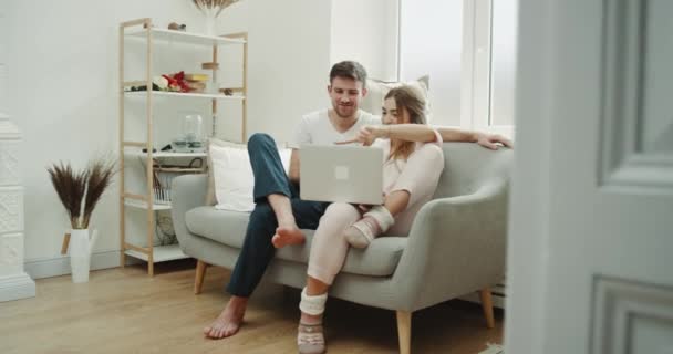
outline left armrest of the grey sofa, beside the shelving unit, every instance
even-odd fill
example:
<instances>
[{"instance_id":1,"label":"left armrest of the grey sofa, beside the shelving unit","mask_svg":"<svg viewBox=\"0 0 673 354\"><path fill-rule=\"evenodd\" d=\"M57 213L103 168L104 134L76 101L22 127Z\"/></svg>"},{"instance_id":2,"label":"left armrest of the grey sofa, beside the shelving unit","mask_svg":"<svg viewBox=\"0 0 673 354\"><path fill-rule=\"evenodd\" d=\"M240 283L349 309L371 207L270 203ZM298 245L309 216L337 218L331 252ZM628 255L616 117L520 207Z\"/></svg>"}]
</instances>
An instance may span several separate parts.
<instances>
[{"instance_id":1,"label":"left armrest of the grey sofa, beside the shelving unit","mask_svg":"<svg viewBox=\"0 0 673 354\"><path fill-rule=\"evenodd\" d=\"M185 214L196 207L206 205L206 191L208 189L207 175L184 175L173 180L172 186L173 228L178 242L187 237L187 223Z\"/></svg>"}]
</instances>

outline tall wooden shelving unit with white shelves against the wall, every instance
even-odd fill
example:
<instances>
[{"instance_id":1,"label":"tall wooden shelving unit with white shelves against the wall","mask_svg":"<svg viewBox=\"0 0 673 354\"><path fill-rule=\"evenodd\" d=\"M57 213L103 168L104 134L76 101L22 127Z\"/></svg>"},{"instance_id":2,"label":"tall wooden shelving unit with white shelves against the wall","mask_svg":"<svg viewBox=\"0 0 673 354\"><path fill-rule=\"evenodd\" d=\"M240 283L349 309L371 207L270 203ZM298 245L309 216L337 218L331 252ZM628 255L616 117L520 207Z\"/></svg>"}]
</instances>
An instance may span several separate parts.
<instances>
[{"instance_id":1,"label":"tall wooden shelving unit with white shelves against the wall","mask_svg":"<svg viewBox=\"0 0 673 354\"><path fill-rule=\"evenodd\" d=\"M235 33L220 37L204 35L198 33L188 33L183 31L173 31L166 29L154 28L152 19L137 19L122 22L120 24L120 246L121 246L121 264L126 263L126 257L142 259L147 262L147 272L154 275L154 263L162 261L176 260L187 258L178 244L154 246L155 218L156 211L169 210L169 204L159 204L155 201L154 190L147 188L146 194L134 195L126 190L125 186L125 163L128 157L141 157L145 162L145 176L147 176L146 185L153 186L153 176L155 171L164 173L204 173L205 167L199 168L179 168L179 167L159 167L155 168L152 163L155 158L185 158L185 157L201 157L205 158L205 153L153 153L154 136L153 136L153 105L155 100L161 104L162 100L210 100L214 122L214 133L216 127L216 115L219 101L239 101L242 104L242 122L241 122L241 142L246 140L247 136L247 81L248 81L248 34ZM126 38L136 38L146 42L146 77L139 81L125 81L124 75L124 48ZM232 95L211 94L211 93L176 93L164 91L127 91L130 86L146 85L152 87L152 77L156 74L153 72L153 46L162 42L176 44L197 44L206 45L213 49L213 58L209 60L213 63L218 63L218 48L221 45L242 45L244 65L242 65L242 87L230 87ZM213 82L217 82L217 70L213 70ZM146 101L146 126L147 136L144 142L127 140L124 134L125 119L125 101L126 100L145 100ZM143 153L145 148L147 153ZM156 148L156 147L155 147ZM126 237L126 217L125 209L133 208L146 212L147 220L147 246L141 247L128 242Z\"/></svg>"}]
</instances>

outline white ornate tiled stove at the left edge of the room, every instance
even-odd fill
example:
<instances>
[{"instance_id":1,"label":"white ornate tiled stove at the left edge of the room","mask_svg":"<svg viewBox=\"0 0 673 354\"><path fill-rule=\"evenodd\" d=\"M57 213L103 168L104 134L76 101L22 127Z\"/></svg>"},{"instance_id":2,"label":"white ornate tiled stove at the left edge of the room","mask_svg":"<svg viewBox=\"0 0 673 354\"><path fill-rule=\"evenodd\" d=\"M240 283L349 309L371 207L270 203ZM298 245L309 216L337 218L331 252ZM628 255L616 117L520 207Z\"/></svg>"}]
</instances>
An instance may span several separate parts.
<instances>
[{"instance_id":1,"label":"white ornate tiled stove at the left edge of the room","mask_svg":"<svg viewBox=\"0 0 673 354\"><path fill-rule=\"evenodd\" d=\"M35 282L23 271L21 133L0 113L0 302L32 298Z\"/></svg>"}]
</instances>

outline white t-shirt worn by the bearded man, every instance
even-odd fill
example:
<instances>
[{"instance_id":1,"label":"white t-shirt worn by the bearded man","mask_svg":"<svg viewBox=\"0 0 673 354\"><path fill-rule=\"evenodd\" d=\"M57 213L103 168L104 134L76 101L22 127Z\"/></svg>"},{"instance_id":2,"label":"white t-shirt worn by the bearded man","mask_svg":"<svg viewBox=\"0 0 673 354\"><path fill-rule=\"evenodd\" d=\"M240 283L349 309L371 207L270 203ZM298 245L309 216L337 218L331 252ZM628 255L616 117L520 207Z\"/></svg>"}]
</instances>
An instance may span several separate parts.
<instances>
[{"instance_id":1,"label":"white t-shirt worn by the bearded man","mask_svg":"<svg viewBox=\"0 0 673 354\"><path fill-rule=\"evenodd\" d=\"M381 117L362 110L358 111L358 121L346 132L339 133L330 122L328 110L315 111L304 115L294 131L290 148L300 148L304 144L331 145L354 138L364 125L380 125Z\"/></svg>"}]
</instances>

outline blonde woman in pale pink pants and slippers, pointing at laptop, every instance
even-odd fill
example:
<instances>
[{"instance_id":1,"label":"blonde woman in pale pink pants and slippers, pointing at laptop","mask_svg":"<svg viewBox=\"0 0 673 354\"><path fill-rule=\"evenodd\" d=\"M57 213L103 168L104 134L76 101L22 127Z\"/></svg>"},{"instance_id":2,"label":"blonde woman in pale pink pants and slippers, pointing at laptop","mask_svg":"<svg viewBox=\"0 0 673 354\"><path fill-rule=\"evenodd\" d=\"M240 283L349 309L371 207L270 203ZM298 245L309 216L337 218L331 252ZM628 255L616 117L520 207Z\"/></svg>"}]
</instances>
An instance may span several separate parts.
<instances>
[{"instance_id":1,"label":"blonde woman in pale pink pants and slippers, pointing at laptop","mask_svg":"<svg viewBox=\"0 0 673 354\"><path fill-rule=\"evenodd\" d=\"M442 136L426 125L424 113L425 101L413 88L393 88L383 105L384 125L365 126L355 139L344 142L384 150L384 205L367 208L335 202L321 218L299 305L299 353L325 351L321 325L324 303L349 247L366 247L386 231L407 235L416 212L432 198L444 169L444 156Z\"/></svg>"}]
</instances>

